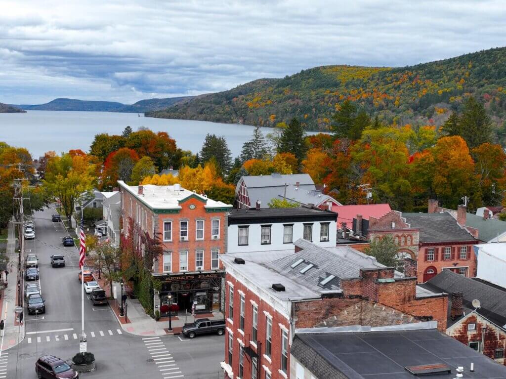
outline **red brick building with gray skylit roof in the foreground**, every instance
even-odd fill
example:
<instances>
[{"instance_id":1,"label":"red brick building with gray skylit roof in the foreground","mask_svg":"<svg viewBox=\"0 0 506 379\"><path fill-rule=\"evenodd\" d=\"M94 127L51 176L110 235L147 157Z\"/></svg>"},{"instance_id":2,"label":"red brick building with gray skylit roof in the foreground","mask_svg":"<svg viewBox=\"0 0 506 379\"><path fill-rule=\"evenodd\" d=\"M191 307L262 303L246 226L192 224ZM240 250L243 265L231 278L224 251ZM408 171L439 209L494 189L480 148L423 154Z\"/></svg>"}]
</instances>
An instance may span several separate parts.
<instances>
[{"instance_id":1,"label":"red brick building with gray skylit roof in the foreground","mask_svg":"<svg viewBox=\"0 0 506 379\"><path fill-rule=\"evenodd\" d=\"M303 239L294 246L221 257L226 377L287 378L292 340L304 328L434 320L445 330L447 297L417 286L416 278L349 247Z\"/></svg>"}]
</instances>

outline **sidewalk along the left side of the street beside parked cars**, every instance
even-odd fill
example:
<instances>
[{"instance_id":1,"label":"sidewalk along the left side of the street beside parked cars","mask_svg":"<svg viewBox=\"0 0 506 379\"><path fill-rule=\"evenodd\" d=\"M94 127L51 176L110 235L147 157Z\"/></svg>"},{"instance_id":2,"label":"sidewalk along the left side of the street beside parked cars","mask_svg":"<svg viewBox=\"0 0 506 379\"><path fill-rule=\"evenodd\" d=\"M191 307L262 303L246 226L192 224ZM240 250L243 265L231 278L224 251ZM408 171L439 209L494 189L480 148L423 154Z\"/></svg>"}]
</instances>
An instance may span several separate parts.
<instances>
[{"instance_id":1,"label":"sidewalk along the left side of the street beside parked cars","mask_svg":"<svg viewBox=\"0 0 506 379\"><path fill-rule=\"evenodd\" d=\"M17 306L17 278L18 278L18 259L19 254L16 251L16 235L14 234L14 224L9 223L8 241L6 255L9 257L7 264L7 288L4 290L2 315L0 318L4 319L5 315L5 329L4 341L2 350L10 349L19 344L25 338L25 325L19 324L16 321L16 314L14 310ZM23 304L20 305L23 307ZM7 312L7 313L6 313Z\"/></svg>"}]
</instances>

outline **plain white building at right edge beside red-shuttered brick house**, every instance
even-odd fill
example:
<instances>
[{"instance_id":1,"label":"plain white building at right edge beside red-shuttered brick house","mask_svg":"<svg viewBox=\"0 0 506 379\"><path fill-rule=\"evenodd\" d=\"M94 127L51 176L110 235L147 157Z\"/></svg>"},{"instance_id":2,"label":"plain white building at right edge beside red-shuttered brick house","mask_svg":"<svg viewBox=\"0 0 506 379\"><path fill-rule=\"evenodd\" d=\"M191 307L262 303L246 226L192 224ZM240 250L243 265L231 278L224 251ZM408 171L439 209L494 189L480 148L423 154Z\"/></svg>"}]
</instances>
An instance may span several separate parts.
<instances>
[{"instance_id":1,"label":"plain white building at right edge beside red-shuttered brick house","mask_svg":"<svg viewBox=\"0 0 506 379\"><path fill-rule=\"evenodd\" d=\"M476 277L506 288L506 243L475 245Z\"/></svg>"}]
</instances>

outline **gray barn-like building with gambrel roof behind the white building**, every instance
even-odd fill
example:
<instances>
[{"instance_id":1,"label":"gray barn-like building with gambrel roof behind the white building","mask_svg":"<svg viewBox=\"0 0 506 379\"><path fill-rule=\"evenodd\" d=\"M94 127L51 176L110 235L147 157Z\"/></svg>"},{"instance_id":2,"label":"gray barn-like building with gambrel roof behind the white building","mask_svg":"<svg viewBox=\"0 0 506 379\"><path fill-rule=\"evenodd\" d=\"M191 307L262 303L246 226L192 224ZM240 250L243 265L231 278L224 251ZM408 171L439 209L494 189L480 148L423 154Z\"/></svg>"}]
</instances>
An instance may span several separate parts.
<instances>
[{"instance_id":1,"label":"gray barn-like building with gambrel roof behind the white building","mask_svg":"<svg viewBox=\"0 0 506 379\"><path fill-rule=\"evenodd\" d=\"M340 202L316 189L308 174L278 174L243 176L235 188L237 208L268 208L272 199L286 199L301 205L328 209L329 203Z\"/></svg>"}]
</instances>

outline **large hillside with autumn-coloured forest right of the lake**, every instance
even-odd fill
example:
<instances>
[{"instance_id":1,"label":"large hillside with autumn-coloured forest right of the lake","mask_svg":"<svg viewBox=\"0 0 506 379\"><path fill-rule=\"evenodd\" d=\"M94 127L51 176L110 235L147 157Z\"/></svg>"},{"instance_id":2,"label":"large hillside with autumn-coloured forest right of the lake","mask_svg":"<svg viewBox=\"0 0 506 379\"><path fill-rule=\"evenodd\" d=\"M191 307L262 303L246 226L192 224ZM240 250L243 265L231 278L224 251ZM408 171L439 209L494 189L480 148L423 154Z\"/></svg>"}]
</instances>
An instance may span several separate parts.
<instances>
[{"instance_id":1,"label":"large hillside with autumn-coloured forest right of the lake","mask_svg":"<svg viewBox=\"0 0 506 379\"><path fill-rule=\"evenodd\" d=\"M261 126L298 117L306 129L328 130L332 114L349 99L387 123L440 125L470 95L485 103L497 127L502 126L506 48L402 68L315 67L282 79L254 80L146 116Z\"/></svg>"}]
</instances>

